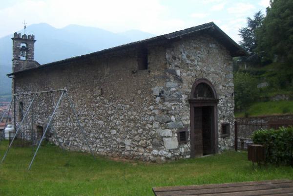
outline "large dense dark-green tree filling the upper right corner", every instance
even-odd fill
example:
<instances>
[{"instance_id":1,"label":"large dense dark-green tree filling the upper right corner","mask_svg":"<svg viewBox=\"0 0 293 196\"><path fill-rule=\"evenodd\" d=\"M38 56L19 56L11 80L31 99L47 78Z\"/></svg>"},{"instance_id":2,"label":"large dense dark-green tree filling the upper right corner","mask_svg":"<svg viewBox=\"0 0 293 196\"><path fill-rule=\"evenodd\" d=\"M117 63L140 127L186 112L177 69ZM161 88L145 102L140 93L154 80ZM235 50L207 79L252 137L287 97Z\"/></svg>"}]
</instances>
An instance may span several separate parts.
<instances>
[{"instance_id":1,"label":"large dense dark-green tree filling the upper right corner","mask_svg":"<svg viewBox=\"0 0 293 196\"><path fill-rule=\"evenodd\" d=\"M293 63L293 0L271 0L263 24L256 30L257 52Z\"/></svg>"}]
</instances>

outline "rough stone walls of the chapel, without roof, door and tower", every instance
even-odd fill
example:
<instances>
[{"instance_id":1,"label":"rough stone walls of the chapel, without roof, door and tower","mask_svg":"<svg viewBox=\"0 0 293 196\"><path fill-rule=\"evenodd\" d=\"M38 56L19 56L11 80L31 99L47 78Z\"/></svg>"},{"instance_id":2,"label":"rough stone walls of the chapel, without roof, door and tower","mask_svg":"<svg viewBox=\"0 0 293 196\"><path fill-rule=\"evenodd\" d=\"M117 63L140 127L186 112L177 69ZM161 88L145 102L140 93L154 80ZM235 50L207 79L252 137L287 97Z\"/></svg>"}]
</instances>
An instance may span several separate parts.
<instances>
[{"instance_id":1,"label":"rough stone walls of the chapel, without roof, door and tower","mask_svg":"<svg viewBox=\"0 0 293 196\"><path fill-rule=\"evenodd\" d=\"M228 50L209 36L197 35L148 46L148 69L137 70L136 50L63 61L15 76L16 93L66 88L95 153L165 161L190 157L190 138L177 141L178 129L190 132L192 84L207 78L218 98L219 149L234 138L233 75ZM33 105L35 126L45 127L60 93L38 95ZM27 108L31 95L20 96ZM29 122L31 116L29 116ZM230 137L221 124L230 123ZM89 151L64 99L47 138L70 150Z\"/></svg>"}]
</instances>

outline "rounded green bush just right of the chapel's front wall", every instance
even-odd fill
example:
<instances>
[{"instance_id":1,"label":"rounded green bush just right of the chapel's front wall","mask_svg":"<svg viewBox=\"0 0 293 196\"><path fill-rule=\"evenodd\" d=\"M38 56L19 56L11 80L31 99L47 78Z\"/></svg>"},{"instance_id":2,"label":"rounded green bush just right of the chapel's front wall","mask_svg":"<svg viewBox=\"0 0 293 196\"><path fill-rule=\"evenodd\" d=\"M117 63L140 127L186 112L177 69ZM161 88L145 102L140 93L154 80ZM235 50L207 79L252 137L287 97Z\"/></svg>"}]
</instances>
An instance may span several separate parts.
<instances>
[{"instance_id":1,"label":"rounded green bush just right of the chapel's front wall","mask_svg":"<svg viewBox=\"0 0 293 196\"><path fill-rule=\"evenodd\" d=\"M258 95L257 79L248 73L234 74L235 108L243 110L255 101Z\"/></svg>"}]
</instances>

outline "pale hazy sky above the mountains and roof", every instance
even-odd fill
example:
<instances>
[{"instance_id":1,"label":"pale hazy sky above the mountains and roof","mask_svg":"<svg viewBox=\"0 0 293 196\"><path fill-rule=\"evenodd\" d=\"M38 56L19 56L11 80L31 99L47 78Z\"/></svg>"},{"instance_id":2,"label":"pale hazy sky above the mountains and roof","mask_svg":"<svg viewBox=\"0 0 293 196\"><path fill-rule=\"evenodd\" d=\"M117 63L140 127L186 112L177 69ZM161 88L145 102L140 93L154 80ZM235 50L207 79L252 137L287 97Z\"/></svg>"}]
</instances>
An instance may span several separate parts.
<instances>
[{"instance_id":1,"label":"pale hazy sky above the mountains and roof","mask_svg":"<svg viewBox=\"0 0 293 196\"><path fill-rule=\"evenodd\" d=\"M0 37L27 25L45 22L56 28L68 24L112 32L138 29L156 35L206 22L215 22L234 41L239 28L270 0L1 0Z\"/></svg>"}]
</instances>

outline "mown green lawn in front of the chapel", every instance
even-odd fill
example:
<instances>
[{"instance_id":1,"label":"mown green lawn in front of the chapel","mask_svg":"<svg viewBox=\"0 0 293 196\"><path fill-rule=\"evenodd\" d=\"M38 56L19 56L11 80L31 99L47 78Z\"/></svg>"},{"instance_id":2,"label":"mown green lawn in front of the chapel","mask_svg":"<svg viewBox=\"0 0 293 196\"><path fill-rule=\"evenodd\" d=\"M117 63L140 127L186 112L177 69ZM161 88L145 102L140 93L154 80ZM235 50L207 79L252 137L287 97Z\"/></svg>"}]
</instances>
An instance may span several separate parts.
<instances>
[{"instance_id":1,"label":"mown green lawn in front of the chapel","mask_svg":"<svg viewBox=\"0 0 293 196\"><path fill-rule=\"evenodd\" d=\"M7 145L1 143L1 157ZM0 164L0 196L153 196L156 186L293 179L292 167L253 169L246 152L156 164L94 159L46 144L27 171L31 158L31 148L11 149Z\"/></svg>"}]
</instances>

